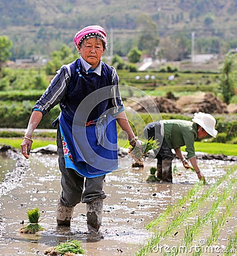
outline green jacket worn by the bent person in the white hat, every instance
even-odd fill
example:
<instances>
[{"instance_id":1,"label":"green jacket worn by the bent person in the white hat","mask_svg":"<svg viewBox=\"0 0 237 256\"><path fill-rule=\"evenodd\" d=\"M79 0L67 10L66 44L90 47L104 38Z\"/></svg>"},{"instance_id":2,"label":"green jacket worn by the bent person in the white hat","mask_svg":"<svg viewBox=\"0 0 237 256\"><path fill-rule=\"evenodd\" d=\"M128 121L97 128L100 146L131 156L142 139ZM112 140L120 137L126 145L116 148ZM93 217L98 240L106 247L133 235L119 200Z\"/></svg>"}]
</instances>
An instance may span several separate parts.
<instances>
[{"instance_id":1,"label":"green jacket worn by the bent person in the white hat","mask_svg":"<svg viewBox=\"0 0 237 256\"><path fill-rule=\"evenodd\" d=\"M170 148L186 146L188 159L195 156L194 141L197 139L197 124L185 120L162 120L164 137Z\"/></svg>"}]
</instances>

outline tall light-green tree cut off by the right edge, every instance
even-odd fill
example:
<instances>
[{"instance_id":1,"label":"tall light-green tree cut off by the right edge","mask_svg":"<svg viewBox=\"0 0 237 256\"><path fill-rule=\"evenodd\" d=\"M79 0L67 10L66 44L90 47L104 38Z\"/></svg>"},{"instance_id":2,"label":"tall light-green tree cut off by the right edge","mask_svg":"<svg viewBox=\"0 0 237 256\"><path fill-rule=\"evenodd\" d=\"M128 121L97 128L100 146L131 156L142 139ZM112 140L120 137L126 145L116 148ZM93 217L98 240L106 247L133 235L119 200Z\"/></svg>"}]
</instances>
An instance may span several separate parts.
<instances>
[{"instance_id":1,"label":"tall light-green tree cut off by the right edge","mask_svg":"<svg viewBox=\"0 0 237 256\"><path fill-rule=\"evenodd\" d=\"M222 93L223 101L229 104L230 99L235 95L236 87L236 55L228 53L225 56L223 66L220 70L219 90Z\"/></svg>"}]
</instances>

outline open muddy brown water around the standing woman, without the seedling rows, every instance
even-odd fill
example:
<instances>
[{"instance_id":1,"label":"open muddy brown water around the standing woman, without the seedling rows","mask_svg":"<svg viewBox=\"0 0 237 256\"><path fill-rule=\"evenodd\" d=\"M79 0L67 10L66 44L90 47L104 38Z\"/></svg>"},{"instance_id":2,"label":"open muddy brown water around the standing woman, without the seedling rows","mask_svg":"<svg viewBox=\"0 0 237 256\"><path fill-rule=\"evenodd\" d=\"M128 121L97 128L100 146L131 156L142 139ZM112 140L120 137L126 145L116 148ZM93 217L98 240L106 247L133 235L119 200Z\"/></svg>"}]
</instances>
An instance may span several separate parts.
<instances>
[{"instance_id":1,"label":"open muddy brown water around the standing woman, without the seedling rows","mask_svg":"<svg viewBox=\"0 0 237 256\"><path fill-rule=\"evenodd\" d=\"M149 169L156 166L155 162L145 163L145 168L131 168L129 159L121 159L120 171L107 175L105 180L107 198L101 235L92 236L85 233L85 204L75 207L71 228L56 227L60 193L57 156L35 154L26 162L28 167L21 171L15 186L8 187L9 179L2 183L8 189L0 195L0 255L44 255L45 249L71 238L82 241L82 247L87 250L85 255L133 255L152 235L145 225L187 193L197 181L196 174L185 171L180 162L174 162L173 184L146 183ZM1 159L1 165L1 171L10 172L14 162ZM209 184L225 173L226 162L223 161L202 161L200 165ZM17 167L13 168L13 173L15 169ZM27 222L27 209L35 207L39 207L41 217L45 217L41 226L46 231L36 235L20 234L20 223Z\"/></svg>"}]
</instances>

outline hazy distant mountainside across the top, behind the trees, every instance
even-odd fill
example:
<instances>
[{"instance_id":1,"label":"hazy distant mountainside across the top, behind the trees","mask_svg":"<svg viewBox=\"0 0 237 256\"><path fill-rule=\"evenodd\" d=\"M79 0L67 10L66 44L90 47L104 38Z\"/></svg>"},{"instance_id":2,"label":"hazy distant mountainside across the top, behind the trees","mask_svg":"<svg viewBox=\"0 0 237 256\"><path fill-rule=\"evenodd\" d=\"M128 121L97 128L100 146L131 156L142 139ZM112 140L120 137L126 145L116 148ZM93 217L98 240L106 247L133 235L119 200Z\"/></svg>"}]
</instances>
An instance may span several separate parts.
<instances>
[{"instance_id":1,"label":"hazy distant mountainside across the top, behind the trees","mask_svg":"<svg viewBox=\"0 0 237 256\"><path fill-rule=\"evenodd\" d=\"M236 14L237 0L1 0L0 35L18 52L37 47L47 54L62 43L72 46L76 31L89 24L104 26L108 34L113 28L114 40L133 37L141 15L147 15L160 37L195 31L199 38L235 40Z\"/></svg>"}]
</instances>

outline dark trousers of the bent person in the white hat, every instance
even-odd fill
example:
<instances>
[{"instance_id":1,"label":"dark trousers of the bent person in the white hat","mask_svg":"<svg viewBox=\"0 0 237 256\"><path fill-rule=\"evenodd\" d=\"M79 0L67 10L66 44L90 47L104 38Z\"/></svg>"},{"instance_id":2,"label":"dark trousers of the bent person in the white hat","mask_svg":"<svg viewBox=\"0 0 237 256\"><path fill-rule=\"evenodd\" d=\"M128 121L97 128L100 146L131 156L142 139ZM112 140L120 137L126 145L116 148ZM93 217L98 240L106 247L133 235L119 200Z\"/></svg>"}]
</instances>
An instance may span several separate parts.
<instances>
[{"instance_id":1,"label":"dark trousers of the bent person in the white hat","mask_svg":"<svg viewBox=\"0 0 237 256\"><path fill-rule=\"evenodd\" d=\"M159 148L154 152L157 158L157 164L161 165L162 160L173 160L174 153L172 153L171 148L169 148L167 142L165 141L165 137L161 135L161 123L159 121L155 121L153 123L149 123L143 133L146 139L156 139L159 142Z\"/></svg>"}]
</instances>

